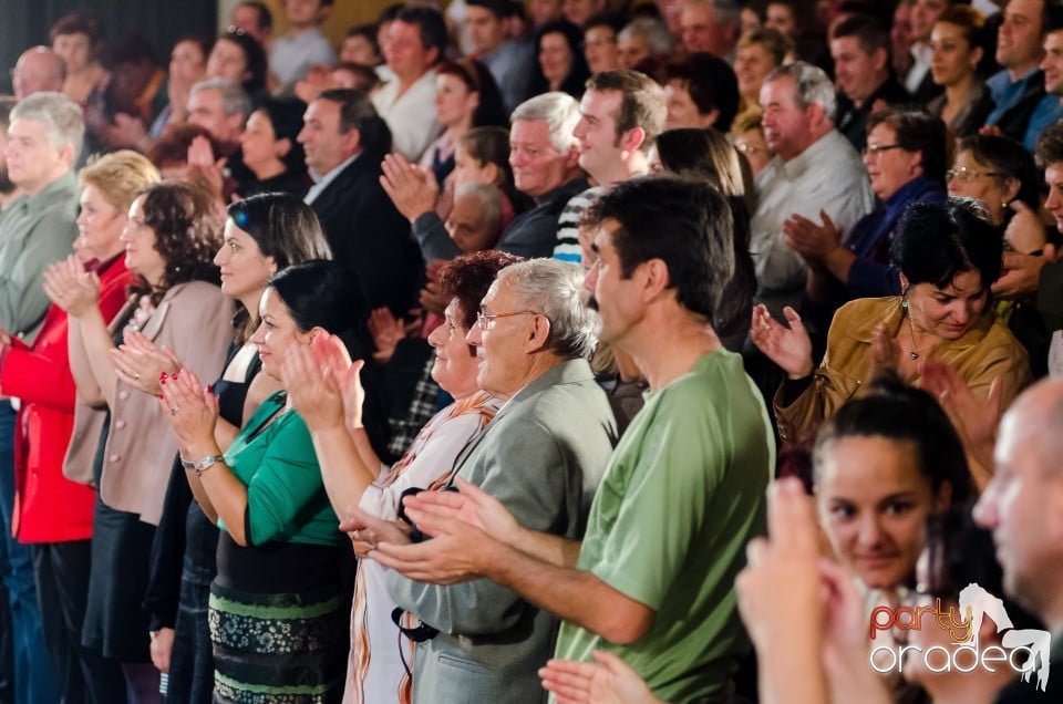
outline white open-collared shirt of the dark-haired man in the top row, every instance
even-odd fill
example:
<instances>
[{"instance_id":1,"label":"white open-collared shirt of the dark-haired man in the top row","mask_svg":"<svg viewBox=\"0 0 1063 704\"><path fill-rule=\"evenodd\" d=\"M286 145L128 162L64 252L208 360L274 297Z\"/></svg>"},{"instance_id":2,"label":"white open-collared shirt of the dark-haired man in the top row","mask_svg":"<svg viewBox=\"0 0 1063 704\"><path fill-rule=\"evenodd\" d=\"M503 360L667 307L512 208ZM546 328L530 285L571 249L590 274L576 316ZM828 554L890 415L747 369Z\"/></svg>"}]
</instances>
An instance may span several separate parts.
<instances>
[{"instance_id":1,"label":"white open-collared shirt of the dark-haired man in the top row","mask_svg":"<svg viewBox=\"0 0 1063 704\"><path fill-rule=\"evenodd\" d=\"M435 71L429 71L399 95L399 80L372 95L373 107L391 130L391 151L416 164L440 134L435 121Z\"/></svg>"}]
</instances>

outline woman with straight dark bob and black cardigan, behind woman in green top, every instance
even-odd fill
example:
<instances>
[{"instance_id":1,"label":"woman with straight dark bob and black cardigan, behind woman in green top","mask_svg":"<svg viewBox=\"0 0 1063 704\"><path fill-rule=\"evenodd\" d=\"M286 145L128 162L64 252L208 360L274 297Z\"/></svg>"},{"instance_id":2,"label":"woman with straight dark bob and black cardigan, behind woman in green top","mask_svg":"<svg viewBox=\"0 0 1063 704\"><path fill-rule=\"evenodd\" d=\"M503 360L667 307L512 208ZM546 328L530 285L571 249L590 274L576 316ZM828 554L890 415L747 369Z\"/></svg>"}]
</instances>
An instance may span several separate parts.
<instances>
[{"instance_id":1,"label":"woman with straight dark bob and black cardigan, behind woman in green top","mask_svg":"<svg viewBox=\"0 0 1063 704\"><path fill-rule=\"evenodd\" d=\"M218 444L228 447L264 398L279 384L259 374L261 364L250 342L258 327L258 301L266 281L278 269L330 257L313 210L289 194L252 196L229 206L229 217L214 262L221 269L221 291L240 303L234 319L236 338L221 376L214 382L219 417ZM143 335L128 335L116 360L144 383L140 390L158 394L159 374L180 369L173 355L161 353ZM128 376L130 374L127 374ZM209 704L214 658L207 623L210 581L217 573L218 529L193 500L180 462L174 463L163 516L152 547L151 581L145 608L151 615L152 660L169 673L171 701Z\"/></svg>"}]
</instances>

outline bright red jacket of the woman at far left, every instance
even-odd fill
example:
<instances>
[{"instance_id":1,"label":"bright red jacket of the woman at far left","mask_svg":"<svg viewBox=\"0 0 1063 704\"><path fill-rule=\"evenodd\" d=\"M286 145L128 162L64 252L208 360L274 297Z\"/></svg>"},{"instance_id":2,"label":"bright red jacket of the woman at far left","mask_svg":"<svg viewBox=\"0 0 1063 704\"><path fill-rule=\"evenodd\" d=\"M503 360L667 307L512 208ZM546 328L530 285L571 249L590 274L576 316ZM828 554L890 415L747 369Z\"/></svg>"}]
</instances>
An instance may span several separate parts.
<instances>
[{"instance_id":1,"label":"bright red jacket of the woman at far left","mask_svg":"<svg viewBox=\"0 0 1063 704\"><path fill-rule=\"evenodd\" d=\"M100 311L110 321L122 309L132 272L120 257L100 273ZM63 476L74 423L66 313L52 306L27 346L12 339L0 363L0 389L21 400L16 424L12 534L21 542L63 542L92 537L95 490Z\"/></svg>"}]
</instances>

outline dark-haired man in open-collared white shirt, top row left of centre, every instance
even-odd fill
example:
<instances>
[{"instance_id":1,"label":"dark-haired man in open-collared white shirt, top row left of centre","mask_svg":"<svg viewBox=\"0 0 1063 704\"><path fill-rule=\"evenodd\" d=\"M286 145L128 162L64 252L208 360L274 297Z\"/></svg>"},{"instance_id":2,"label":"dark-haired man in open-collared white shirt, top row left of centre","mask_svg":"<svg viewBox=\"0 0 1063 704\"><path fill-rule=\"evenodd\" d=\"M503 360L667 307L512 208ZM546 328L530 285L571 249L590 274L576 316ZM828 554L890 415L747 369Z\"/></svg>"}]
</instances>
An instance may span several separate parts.
<instances>
[{"instance_id":1,"label":"dark-haired man in open-collared white shirt, top row left of centre","mask_svg":"<svg viewBox=\"0 0 1063 704\"><path fill-rule=\"evenodd\" d=\"M410 162L419 162L440 133L432 68L445 48L446 22L433 8L403 8L388 28L382 49L395 77L372 101L391 128L393 149Z\"/></svg>"}]
</instances>

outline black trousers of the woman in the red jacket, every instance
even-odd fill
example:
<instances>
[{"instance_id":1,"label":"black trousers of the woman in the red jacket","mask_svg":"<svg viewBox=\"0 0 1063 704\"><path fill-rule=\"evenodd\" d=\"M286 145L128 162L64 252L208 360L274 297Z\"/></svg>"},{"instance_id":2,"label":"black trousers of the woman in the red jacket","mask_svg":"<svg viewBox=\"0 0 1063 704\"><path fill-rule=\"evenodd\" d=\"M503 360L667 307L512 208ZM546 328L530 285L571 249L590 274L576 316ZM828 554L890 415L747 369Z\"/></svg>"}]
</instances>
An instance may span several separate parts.
<instances>
[{"instance_id":1,"label":"black trousers of the woman in the red jacket","mask_svg":"<svg viewBox=\"0 0 1063 704\"><path fill-rule=\"evenodd\" d=\"M33 546L44 641L64 704L112 704L126 698L118 662L81 644L91 565L91 540Z\"/></svg>"}]
</instances>

